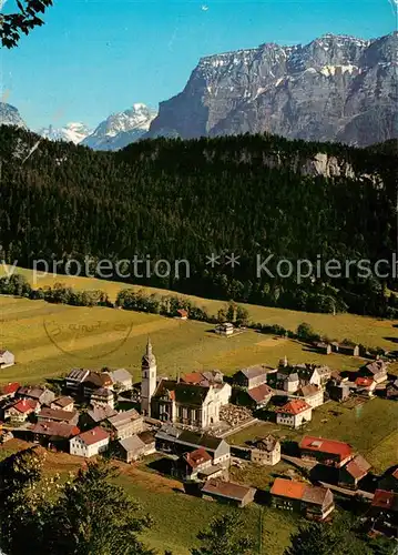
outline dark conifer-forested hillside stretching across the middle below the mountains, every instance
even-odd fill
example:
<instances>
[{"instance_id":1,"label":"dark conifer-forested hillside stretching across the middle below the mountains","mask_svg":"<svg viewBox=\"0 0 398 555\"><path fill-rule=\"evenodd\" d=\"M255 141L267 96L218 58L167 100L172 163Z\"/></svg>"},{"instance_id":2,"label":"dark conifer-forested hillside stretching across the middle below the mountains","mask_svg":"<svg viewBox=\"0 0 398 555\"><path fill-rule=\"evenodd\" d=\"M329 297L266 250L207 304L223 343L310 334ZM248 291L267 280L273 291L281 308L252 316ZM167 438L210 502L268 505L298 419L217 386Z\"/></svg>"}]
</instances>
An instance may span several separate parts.
<instances>
[{"instance_id":1,"label":"dark conifer-forested hillside stretching across the middle below the mountains","mask_svg":"<svg viewBox=\"0 0 398 555\"><path fill-rule=\"evenodd\" d=\"M256 256L268 254L275 256L271 270L279 258L294 264L391 260L392 149L244 135L157 139L116 153L41 140L32 151L38 140L0 128L0 258L8 263L30 266L34 259L68 262L86 255L93 262L186 259L188 279L172 274L141 282L299 310L397 315L396 297L386 294L396 284L391 274L365 280L354 271L348 279L323 273L298 284L295 274L256 272ZM235 253L239 264L232 269L222 258L212 269L206 264L212 253Z\"/></svg>"}]
</instances>

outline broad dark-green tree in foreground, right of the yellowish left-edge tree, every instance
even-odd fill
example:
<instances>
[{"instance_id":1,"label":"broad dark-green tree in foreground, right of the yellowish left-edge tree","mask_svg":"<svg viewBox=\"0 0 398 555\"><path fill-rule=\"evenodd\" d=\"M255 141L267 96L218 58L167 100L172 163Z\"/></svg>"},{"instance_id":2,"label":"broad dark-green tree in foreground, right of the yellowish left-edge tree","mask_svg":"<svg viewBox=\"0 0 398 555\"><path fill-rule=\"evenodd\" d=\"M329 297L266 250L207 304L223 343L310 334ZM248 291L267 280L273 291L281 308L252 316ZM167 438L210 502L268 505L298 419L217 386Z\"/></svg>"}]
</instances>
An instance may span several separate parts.
<instances>
[{"instance_id":1,"label":"broad dark-green tree in foreground, right of the yellowish left-edge tree","mask_svg":"<svg viewBox=\"0 0 398 555\"><path fill-rule=\"evenodd\" d=\"M49 522L49 553L58 555L152 555L137 534L151 525L139 505L114 483L116 470L89 462L68 482Z\"/></svg>"}]
</instances>

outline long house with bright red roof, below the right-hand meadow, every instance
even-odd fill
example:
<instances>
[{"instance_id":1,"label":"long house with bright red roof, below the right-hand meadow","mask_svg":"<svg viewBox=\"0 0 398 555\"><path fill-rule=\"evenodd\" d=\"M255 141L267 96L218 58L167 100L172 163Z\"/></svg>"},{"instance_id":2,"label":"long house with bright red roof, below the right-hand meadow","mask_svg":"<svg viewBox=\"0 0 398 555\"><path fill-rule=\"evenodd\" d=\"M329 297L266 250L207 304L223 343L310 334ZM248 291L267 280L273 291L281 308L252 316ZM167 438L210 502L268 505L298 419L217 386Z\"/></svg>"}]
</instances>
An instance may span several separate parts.
<instances>
[{"instance_id":1,"label":"long house with bright red roof, below the right-hand meadow","mask_svg":"<svg viewBox=\"0 0 398 555\"><path fill-rule=\"evenodd\" d=\"M299 443L300 456L306 461L317 461L327 466L340 468L354 457L348 443L305 435Z\"/></svg>"}]
</instances>

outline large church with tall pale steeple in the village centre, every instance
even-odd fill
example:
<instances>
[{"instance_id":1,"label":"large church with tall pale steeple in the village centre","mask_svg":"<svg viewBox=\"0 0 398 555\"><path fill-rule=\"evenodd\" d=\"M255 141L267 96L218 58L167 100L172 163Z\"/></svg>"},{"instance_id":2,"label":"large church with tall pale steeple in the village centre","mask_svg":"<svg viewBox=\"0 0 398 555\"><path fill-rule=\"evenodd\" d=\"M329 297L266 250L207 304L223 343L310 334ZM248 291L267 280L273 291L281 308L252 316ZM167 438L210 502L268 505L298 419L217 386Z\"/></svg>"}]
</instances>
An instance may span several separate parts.
<instances>
[{"instance_id":1,"label":"large church with tall pale steeple in the village centre","mask_svg":"<svg viewBox=\"0 0 398 555\"><path fill-rule=\"evenodd\" d=\"M180 380L157 381L156 359L147 341L142 357L141 410L153 418L207 428L220 422L220 410L228 404L232 389L227 383L207 385L184 383Z\"/></svg>"}]
</instances>

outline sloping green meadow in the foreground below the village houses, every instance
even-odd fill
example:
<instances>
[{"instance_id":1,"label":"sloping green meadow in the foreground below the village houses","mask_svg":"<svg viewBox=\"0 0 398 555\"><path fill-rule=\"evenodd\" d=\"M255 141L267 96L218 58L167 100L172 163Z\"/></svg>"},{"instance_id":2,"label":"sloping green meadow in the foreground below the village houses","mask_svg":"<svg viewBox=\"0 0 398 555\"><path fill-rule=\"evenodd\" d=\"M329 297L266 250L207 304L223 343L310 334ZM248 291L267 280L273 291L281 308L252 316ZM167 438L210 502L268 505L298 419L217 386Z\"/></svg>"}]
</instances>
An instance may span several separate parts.
<instances>
[{"instance_id":1,"label":"sloping green meadow in the foreground below the village houses","mask_svg":"<svg viewBox=\"0 0 398 555\"><path fill-rule=\"evenodd\" d=\"M0 446L0 460L30 444L11 440ZM60 473L61 477L75 472L83 460L64 453L47 452L44 472ZM149 513L154 524L143 534L145 543L160 555L165 549L175 555L187 555L197 545L197 534L206 528L210 521L226 512L239 511L246 524L246 533L255 539L254 555L282 555L289 543L290 534L297 528L299 517L269 507L249 505L235 509L215 502L186 495L182 484L174 480L151 474L141 465L118 463L120 475L116 483L122 485L140 504L142 512ZM275 534L277 531L277 534Z\"/></svg>"}]
</instances>

